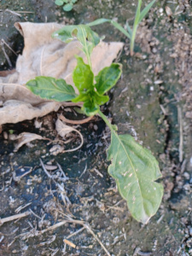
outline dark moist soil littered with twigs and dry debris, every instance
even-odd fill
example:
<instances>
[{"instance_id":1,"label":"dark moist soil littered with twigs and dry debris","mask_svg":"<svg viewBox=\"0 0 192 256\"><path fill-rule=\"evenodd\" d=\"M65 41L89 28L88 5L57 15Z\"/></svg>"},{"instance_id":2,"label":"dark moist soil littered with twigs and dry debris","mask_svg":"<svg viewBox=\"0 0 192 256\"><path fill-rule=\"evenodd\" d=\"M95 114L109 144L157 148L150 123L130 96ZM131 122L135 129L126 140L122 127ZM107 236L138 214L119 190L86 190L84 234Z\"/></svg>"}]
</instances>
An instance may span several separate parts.
<instances>
[{"instance_id":1,"label":"dark moist soil littered with twigs and dry debris","mask_svg":"<svg viewBox=\"0 0 192 256\"><path fill-rule=\"evenodd\" d=\"M1 226L0 255L107 255L90 232L75 233L82 228L80 224L63 224L44 234L37 233L61 222L64 213L90 224L111 255L192 255L192 8L190 1L168 2L157 1L139 26L133 57L129 55L129 42L122 34L108 24L96 27L96 32L105 35L107 41L125 42L118 60L123 63L123 76L111 91L108 106L102 110L113 118L119 133L130 133L159 160L163 174L160 182L165 187L159 211L147 225L131 218L113 178L108 176L106 148L110 134L100 119L79 125L84 136L84 146L79 151L57 155L49 153L52 145L45 141L23 146L14 153L13 142L6 139L9 133L22 131L55 139L56 113L38 119L43 122L40 129L35 128L34 120L4 125L0 134L0 217L30 209L32 212L26 218ZM17 53L21 52L22 38L13 27L15 21L78 24L100 17L118 17L119 22L125 24L125 20L132 20L136 9L136 2L123 0L79 0L68 14L50 0L0 3L1 38ZM172 10L170 16L166 14L167 7ZM5 9L25 13L19 17ZM6 47L12 67L2 51L1 70L15 65L15 55ZM69 119L83 118L75 117L73 109L59 112ZM73 137L66 148L74 148L79 143L79 138ZM69 177L64 183L58 182L65 189L67 204L43 171L39 158L44 164L59 163ZM18 210L20 206L23 208ZM72 234L74 236L67 238ZM63 239L75 246L65 248Z\"/></svg>"}]
</instances>

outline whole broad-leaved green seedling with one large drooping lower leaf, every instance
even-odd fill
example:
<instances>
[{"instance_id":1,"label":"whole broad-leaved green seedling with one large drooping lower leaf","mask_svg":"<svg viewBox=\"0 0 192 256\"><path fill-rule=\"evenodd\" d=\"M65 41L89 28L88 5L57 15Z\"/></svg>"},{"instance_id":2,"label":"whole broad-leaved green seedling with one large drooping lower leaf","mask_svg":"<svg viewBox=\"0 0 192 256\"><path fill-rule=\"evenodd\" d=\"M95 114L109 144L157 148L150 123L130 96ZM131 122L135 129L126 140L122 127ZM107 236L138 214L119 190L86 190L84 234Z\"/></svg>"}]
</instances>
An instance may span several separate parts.
<instances>
[{"instance_id":1,"label":"whole broad-leaved green seedling with one large drooping lower leaf","mask_svg":"<svg viewBox=\"0 0 192 256\"><path fill-rule=\"evenodd\" d=\"M105 94L121 76L121 65L113 63L94 76L90 55L100 43L100 38L90 26L65 26L55 32L53 38L65 43L76 38L82 45L88 64L76 56L77 66L73 70L73 82L79 90L79 95L76 95L73 86L67 84L64 79L40 76L27 82L26 87L44 99L84 102L82 110L87 116L100 115L111 131L108 160L112 162L108 173L115 179L119 193L127 202L133 218L147 224L148 219L160 207L163 195L163 186L155 182L161 177L158 162L151 152L136 143L131 135L118 135L117 126L112 125L100 110L100 106L109 100Z\"/></svg>"}]
</instances>

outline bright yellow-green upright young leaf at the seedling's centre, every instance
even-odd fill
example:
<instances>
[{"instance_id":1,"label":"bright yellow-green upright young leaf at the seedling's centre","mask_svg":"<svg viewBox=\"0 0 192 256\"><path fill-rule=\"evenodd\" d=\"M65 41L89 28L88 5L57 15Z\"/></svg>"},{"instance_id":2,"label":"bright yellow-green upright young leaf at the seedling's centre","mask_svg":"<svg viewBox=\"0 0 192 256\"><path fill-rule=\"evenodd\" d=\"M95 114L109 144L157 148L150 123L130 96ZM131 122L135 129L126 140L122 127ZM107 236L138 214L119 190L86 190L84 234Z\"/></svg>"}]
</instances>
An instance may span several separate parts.
<instances>
[{"instance_id":1,"label":"bright yellow-green upright young leaf at the seedling's centre","mask_svg":"<svg viewBox=\"0 0 192 256\"><path fill-rule=\"evenodd\" d=\"M90 66L84 63L81 57L77 57L78 65L73 70L73 82L79 92L93 89L94 74Z\"/></svg>"}]
</instances>

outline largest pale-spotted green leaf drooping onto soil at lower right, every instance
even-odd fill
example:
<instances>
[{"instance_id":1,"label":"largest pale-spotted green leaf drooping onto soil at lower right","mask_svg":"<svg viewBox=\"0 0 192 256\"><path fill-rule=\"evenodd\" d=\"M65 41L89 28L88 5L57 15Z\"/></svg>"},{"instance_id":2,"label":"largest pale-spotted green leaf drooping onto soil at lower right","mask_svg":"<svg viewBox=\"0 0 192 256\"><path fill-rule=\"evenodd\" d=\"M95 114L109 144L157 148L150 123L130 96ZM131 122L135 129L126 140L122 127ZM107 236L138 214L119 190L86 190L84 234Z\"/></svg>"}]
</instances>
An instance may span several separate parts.
<instances>
[{"instance_id":1,"label":"largest pale-spotted green leaf drooping onto soil at lower right","mask_svg":"<svg viewBox=\"0 0 192 256\"><path fill-rule=\"evenodd\" d=\"M154 182L161 177L157 160L130 135L112 130L108 148L109 174L115 178L120 195L127 201L131 215L143 224L148 223L160 207L163 186Z\"/></svg>"}]
</instances>

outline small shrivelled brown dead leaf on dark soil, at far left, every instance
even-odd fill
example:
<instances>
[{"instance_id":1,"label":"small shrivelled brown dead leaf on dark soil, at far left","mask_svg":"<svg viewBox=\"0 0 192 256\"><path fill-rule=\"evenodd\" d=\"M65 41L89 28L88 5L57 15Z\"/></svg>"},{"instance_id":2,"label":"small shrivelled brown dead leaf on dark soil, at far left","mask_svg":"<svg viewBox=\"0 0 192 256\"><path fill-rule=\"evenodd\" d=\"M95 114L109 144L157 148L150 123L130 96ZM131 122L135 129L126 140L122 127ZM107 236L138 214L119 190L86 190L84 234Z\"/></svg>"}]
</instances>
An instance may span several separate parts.
<instances>
[{"instance_id":1,"label":"small shrivelled brown dead leaf on dark soil, at far left","mask_svg":"<svg viewBox=\"0 0 192 256\"><path fill-rule=\"evenodd\" d=\"M17 152L18 149L22 147L24 144L31 143L34 140L47 140L47 138L31 132L22 132L19 135L13 134L11 137L9 137L9 139L15 141L14 152Z\"/></svg>"}]
</instances>

